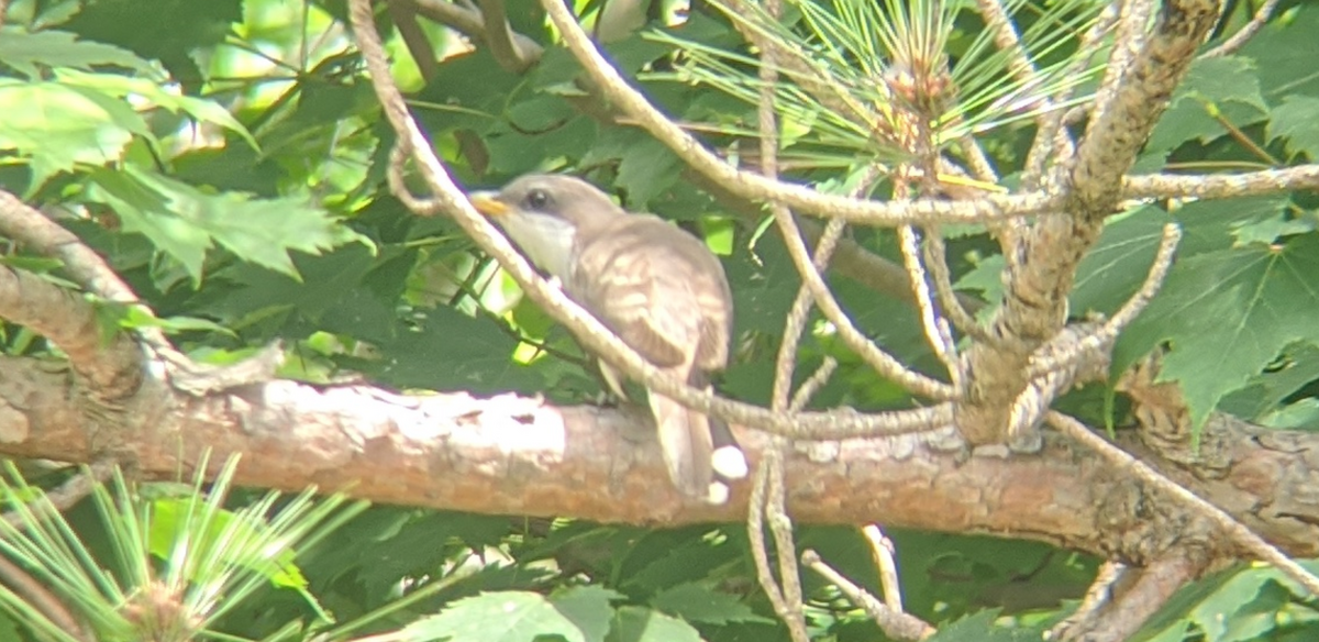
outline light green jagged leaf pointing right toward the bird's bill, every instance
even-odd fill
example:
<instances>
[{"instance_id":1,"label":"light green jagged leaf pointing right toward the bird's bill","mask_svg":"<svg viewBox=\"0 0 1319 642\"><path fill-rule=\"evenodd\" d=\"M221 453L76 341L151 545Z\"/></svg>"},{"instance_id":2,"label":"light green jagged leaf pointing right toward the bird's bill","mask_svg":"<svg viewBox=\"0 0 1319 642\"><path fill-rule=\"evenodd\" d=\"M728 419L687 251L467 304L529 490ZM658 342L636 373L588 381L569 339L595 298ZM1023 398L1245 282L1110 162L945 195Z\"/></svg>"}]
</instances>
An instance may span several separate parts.
<instances>
[{"instance_id":1,"label":"light green jagged leaf pointing right toward the bird's bill","mask_svg":"<svg viewBox=\"0 0 1319 642\"><path fill-rule=\"evenodd\" d=\"M290 250L318 254L347 240L364 240L306 199L208 194L132 166L96 171L87 198L112 207L125 231L150 239L185 266L194 283L200 282L206 253L215 244L244 261L298 278Z\"/></svg>"}]
</instances>

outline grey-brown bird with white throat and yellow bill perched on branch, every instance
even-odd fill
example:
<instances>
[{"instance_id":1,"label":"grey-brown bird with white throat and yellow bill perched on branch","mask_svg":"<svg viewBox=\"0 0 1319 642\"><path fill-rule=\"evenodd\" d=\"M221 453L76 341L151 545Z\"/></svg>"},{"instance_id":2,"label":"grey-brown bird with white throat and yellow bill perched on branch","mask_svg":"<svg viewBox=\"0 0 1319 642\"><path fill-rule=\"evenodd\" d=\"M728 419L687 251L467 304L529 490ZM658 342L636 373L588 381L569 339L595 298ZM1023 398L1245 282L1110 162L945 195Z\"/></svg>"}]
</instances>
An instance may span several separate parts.
<instances>
[{"instance_id":1,"label":"grey-brown bird with white throat and yellow bill perched on branch","mask_svg":"<svg viewBox=\"0 0 1319 642\"><path fill-rule=\"evenodd\" d=\"M733 303L723 265L704 243L645 214L628 214L590 183L533 174L499 192L471 195L563 291L657 368L689 385L728 364ZM624 395L613 370L600 369ZM747 476L747 459L728 426L648 392L674 485L711 504L728 498L728 480Z\"/></svg>"}]
</instances>

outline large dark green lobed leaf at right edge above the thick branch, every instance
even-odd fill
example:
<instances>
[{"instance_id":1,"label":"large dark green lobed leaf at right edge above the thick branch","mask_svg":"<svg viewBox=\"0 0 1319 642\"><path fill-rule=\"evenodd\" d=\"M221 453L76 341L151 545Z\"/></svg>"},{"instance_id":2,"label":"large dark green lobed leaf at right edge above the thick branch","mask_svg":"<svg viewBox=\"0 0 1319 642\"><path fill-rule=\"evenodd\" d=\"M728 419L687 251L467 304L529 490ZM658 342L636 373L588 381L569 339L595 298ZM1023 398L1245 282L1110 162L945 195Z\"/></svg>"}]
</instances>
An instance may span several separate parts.
<instances>
[{"instance_id":1,"label":"large dark green lobed leaf at right edge above the thick branch","mask_svg":"<svg viewBox=\"0 0 1319 642\"><path fill-rule=\"evenodd\" d=\"M1169 341L1161 378L1177 381L1196 426L1291 343L1319 343L1319 235L1179 261L1163 293L1119 340L1115 372Z\"/></svg>"}]
</instances>

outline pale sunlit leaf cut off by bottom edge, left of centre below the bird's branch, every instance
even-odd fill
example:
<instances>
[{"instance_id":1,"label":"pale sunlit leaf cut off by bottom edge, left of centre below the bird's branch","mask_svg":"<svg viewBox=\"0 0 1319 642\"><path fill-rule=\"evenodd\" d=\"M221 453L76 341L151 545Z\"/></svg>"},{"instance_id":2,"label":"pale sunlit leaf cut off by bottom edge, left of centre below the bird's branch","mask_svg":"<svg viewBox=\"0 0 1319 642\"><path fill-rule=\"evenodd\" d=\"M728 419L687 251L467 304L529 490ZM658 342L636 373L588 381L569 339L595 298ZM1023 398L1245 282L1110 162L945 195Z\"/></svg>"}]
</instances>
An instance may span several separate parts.
<instances>
[{"instance_id":1,"label":"pale sunlit leaf cut off by bottom edge, left of centre below the bird's branch","mask_svg":"<svg viewBox=\"0 0 1319 642\"><path fill-rule=\"evenodd\" d=\"M442 613L418 620L398 633L409 642L530 642L538 635L562 635L567 642L591 639L545 596L522 591L458 600Z\"/></svg>"}]
</instances>

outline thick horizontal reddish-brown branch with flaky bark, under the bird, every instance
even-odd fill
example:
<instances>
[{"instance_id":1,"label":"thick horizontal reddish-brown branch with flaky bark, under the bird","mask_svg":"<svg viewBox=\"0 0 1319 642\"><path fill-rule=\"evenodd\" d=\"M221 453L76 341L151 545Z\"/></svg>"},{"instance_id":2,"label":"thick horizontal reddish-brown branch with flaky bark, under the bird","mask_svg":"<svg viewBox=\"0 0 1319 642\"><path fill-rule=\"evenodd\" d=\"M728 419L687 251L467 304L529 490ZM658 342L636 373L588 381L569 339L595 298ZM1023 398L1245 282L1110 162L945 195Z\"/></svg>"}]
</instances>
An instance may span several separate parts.
<instances>
[{"instance_id":1,"label":"thick horizontal reddish-brown branch with flaky bark, under the bird","mask_svg":"<svg viewBox=\"0 0 1319 642\"><path fill-rule=\"evenodd\" d=\"M40 361L0 359L0 413L13 456L91 461L70 386ZM324 490L385 504L487 514L566 515L654 525L736 521L745 486L727 506L683 505L666 479L642 409L554 407L513 394L406 397L367 386L253 384L206 397L152 381L125 427L144 475L175 479L207 450L241 453L241 485ZM1159 469L1295 556L1319 555L1319 452L1310 432L1262 431L1216 417L1204 456L1212 477L1163 461ZM1161 461L1128 431L1119 446ZM752 459L769 439L739 430ZM786 457L787 506L799 523L867 523L1029 538L1145 563L1190 531L1184 508L1111 464L1049 435L1043 456L959 463L925 435L803 444ZM222 457L212 457L216 461ZM591 492L583 492L590 489ZM1155 504L1150 504L1155 502ZM1162 506L1150 511L1150 506ZM1149 543L1154 542L1154 543ZM1162 544L1159 544L1162 546Z\"/></svg>"}]
</instances>

